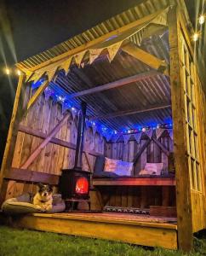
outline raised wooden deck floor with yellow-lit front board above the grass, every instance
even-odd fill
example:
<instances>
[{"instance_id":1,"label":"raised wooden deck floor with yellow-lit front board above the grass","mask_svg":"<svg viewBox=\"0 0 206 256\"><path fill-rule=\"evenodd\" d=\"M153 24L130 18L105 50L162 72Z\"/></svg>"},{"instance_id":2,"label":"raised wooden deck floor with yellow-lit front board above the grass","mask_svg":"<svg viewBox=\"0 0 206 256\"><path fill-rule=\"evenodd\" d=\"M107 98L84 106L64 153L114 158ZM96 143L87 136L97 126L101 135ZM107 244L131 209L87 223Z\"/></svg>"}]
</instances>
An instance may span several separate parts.
<instances>
[{"instance_id":1,"label":"raised wooden deck floor with yellow-lit front board above the grass","mask_svg":"<svg viewBox=\"0 0 206 256\"><path fill-rule=\"evenodd\" d=\"M175 218L125 213L34 213L14 218L15 227L87 236L133 244L177 248Z\"/></svg>"}]
</instances>

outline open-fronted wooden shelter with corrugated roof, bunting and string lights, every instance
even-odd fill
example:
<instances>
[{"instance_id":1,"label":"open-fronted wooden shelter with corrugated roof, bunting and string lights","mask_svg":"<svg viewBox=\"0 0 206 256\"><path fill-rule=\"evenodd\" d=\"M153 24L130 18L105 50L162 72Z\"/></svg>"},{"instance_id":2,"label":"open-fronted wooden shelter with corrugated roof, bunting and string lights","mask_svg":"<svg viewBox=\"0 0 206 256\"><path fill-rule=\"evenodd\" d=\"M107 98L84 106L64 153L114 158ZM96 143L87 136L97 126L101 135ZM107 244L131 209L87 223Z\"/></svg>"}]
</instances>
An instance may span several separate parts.
<instances>
[{"instance_id":1,"label":"open-fronted wooden shelter with corrugated roof, bunting and string lights","mask_svg":"<svg viewBox=\"0 0 206 256\"><path fill-rule=\"evenodd\" d=\"M147 0L16 64L21 74L0 172L1 204L35 193L37 182L58 191L61 170L74 165L77 112L87 102L83 170L93 172L98 155L134 162L133 177L91 179L92 209L176 208L176 218L35 213L14 218L15 225L192 248L193 233L206 228L206 88L188 25L184 1ZM173 155L175 177L168 175ZM140 177L146 162L163 162L166 175Z\"/></svg>"}]
</instances>

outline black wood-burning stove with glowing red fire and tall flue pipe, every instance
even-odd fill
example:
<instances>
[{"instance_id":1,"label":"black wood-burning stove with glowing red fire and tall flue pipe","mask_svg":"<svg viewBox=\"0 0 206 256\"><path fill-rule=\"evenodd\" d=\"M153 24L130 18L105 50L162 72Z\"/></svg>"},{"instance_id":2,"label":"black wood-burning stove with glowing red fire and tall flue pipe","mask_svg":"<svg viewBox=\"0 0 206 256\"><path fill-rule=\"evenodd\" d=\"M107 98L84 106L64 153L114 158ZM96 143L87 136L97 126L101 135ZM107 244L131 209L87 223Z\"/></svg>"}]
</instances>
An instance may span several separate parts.
<instances>
[{"instance_id":1,"label":"black wood-burning stove with glowing red fire and tall flue pipe","mask_svg":"<svg viewBox=\"0 0 206 256\"><path fill-rule=\"evenodd\" d=\"M91 172L82 170L83 135L85 128L86 102L82 102L81 110L78 114L77 126L77 148L73 169L64 169L60 177L60 193L66 201L67 208L76 210L80 201L89 203L89 186ZM90 209L90 203L89 203Z\"/></svg>"}]
</instances>

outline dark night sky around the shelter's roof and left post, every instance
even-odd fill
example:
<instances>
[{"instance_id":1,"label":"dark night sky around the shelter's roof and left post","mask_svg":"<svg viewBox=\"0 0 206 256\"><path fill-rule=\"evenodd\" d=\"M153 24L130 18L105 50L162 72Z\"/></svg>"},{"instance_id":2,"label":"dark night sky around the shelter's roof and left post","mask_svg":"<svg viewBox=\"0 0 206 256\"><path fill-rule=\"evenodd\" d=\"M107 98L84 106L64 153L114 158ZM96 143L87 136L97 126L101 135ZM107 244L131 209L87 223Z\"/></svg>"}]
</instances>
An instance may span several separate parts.
<instances>
[{"instance_id":1,"label":"dark night sky around the shelter's roof and left post","mask_svg":"<svg viewBox=\"0 0 206 256\"><path fill-rule=\"evenodd\" d=\"M141 2L144 1L0 0L0 164L17 85L17 78L5 75L3 67L13 67L15 62L60 44ZM186 0L194 27L200 3L203 0Z\"/></svg>"}]
</instances>

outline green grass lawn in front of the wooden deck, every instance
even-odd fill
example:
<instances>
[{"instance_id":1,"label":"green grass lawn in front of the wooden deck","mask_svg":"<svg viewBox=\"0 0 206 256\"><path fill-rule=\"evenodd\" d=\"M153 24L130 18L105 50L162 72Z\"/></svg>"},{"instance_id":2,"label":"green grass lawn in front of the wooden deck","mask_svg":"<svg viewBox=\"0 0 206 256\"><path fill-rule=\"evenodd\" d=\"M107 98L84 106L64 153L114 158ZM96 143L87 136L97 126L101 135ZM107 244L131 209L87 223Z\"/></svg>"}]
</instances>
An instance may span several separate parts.
<instances>
[{"instance_id":1,"label":"green grass lawn in front of the wooden deck","mask_svg":"<svg viewBox=\"0 0 206 256\"><path fill-rule=\"evenodd\" d=\"M61 255L206 255L206 237L196 239L196 248L192 253L164 250L159 248L137 247L125 243L103 241L77 236L59 235L32 230L14 230L0 226L1 256L61 256Z\"/></svg>"}]
</instances>

